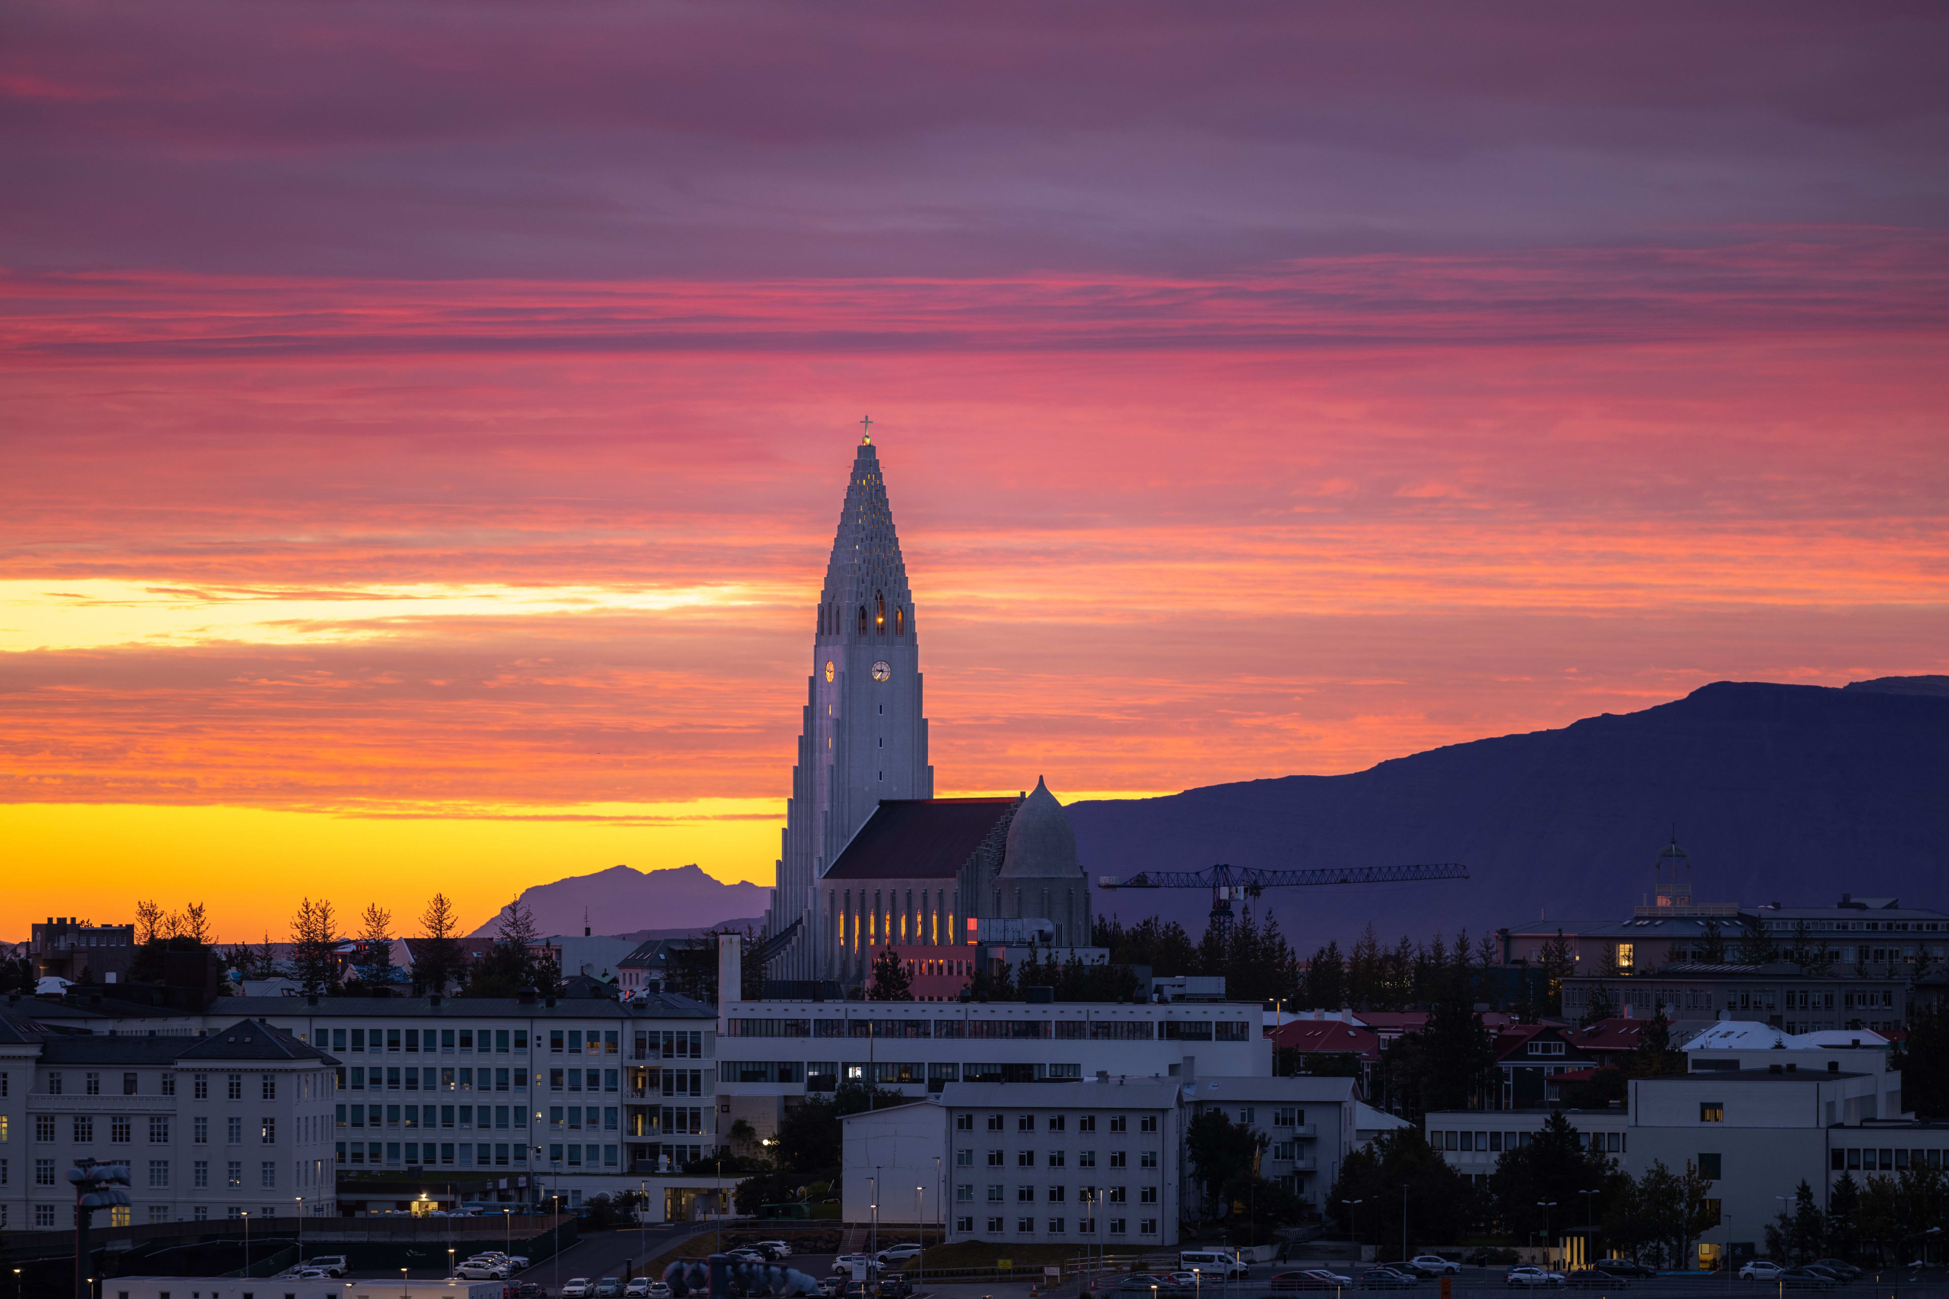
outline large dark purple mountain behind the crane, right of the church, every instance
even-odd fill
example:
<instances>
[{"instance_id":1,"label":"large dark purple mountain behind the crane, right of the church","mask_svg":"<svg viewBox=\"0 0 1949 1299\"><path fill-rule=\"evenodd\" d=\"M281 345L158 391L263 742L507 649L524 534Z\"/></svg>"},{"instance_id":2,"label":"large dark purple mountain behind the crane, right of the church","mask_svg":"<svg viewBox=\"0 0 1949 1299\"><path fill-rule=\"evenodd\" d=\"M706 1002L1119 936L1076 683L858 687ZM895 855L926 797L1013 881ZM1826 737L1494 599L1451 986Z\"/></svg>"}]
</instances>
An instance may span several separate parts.
<instances>
[{"instance_id":1,"label":"large dark purple mountain behind the crane, right of the church","mask_svg":"<svg viewBox=\"0 0 1949 1299\"><path fill-rule=\"evenodd\" d=\"M1288 775L1070 806L1089 876L1142 869L1460 861L1468 880L1269 890L1300 954L1382 939L1624 915L1676 830L1700 902L1949 908L1949 678L1844 689L1717 682L1641 713L1475 740L1351 775ZM1193 933L1199 890L1097 892Z\"/></svg>"}]
</instances>

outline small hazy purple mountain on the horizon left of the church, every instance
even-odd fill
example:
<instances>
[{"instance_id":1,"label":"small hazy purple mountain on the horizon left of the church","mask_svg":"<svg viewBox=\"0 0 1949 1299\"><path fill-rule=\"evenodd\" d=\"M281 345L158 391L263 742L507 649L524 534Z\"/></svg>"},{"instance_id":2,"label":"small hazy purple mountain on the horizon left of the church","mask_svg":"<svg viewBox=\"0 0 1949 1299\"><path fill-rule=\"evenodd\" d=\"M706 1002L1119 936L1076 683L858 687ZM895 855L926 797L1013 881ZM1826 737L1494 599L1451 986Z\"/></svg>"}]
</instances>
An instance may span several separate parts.
<instances>
[{"instance_id":1,"label":"small hazy purple mountain on the horizon left of the church","mask_svg":"<svg viewBox=\"0 0 1949 1299\"><path fill-rule=\"evenodd\" d=\"M602 935L667 935L706 929L731 917L764 915L770 892L758 884L723 884L696 865L669 871L610 867L524 888L520 902L534 913L542 933L581 933L587 917L589 927ZM507 908L474 933L497 935L505 911Z\"/></svg>"}]
</instances>

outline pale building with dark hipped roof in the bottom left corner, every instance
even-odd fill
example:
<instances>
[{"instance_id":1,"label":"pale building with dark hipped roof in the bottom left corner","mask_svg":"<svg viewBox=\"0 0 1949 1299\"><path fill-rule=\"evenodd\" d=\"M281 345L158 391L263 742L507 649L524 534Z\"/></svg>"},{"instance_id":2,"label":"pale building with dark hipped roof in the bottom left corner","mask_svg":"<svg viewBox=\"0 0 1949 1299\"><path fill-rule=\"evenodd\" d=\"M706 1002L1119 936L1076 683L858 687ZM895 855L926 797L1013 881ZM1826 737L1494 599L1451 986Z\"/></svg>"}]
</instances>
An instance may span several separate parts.
<instances>
[{"instance_id":1,"label":"pale building with dark hipped roof in the bottom left corner","mask_svg":"<svg viewBox=\"0 0 1949 1299\"><path fill-rule=\"evenodd\" d=\"M72 1227L78 1159L129 1167L117 1225L333 1213L335 1067L255 1021L109 1038L0 1013L0 1229Z\"/></svg>"}]
</instances>

